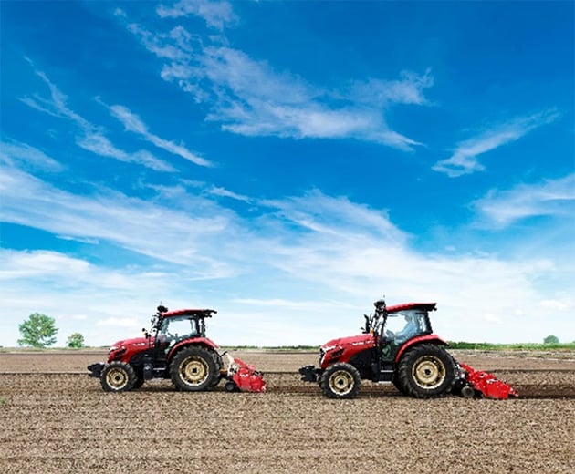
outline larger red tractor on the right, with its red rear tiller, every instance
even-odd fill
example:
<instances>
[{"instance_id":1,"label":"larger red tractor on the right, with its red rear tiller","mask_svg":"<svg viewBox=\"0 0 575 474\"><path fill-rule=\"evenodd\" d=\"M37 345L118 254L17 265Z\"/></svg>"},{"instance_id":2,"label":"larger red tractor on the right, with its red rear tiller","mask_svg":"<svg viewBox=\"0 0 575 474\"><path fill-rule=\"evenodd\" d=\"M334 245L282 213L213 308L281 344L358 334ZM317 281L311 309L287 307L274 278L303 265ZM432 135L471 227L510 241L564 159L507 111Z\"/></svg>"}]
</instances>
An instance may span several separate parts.
<instances>
[{"instance_id":1,"label":"larger red tractor on the right, with its red rear tiller","mask_svg":"<svg viewBox=\"0 0 575 474\"><path fill-rule=\"evenodd\" d=\"M507 398L517 392L486 372L460 366L446 350L447 343L432 331L429 313L435 303L386 306L374 303L365 315L362 335L334 339L319 349L319 368L299 369L301 379L316 382L331 398L355 397L361 379L393 384L404 395L417 398Z\"/></svg>"}]
</instances>

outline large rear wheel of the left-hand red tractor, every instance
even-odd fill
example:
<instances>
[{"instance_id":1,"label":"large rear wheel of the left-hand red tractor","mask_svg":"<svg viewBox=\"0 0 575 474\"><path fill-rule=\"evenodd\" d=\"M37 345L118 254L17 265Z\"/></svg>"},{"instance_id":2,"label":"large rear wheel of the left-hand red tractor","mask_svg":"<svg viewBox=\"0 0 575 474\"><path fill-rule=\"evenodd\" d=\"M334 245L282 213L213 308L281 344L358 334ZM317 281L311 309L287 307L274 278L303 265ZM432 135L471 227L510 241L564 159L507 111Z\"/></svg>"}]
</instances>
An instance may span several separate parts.
<instances>
[{"instance_id":1,"label":"large rear wheel of the left-hand red tractor","mask_svg":"<svg viewBox=\"0 0 575 474\"><path fill-rule=\"evenodd\" d=\"M214 383L216 374L214 356L204 347L183 348L172 359L170 376L173 385L186 392L199 392Z\"/></svg>"}]
</instances>

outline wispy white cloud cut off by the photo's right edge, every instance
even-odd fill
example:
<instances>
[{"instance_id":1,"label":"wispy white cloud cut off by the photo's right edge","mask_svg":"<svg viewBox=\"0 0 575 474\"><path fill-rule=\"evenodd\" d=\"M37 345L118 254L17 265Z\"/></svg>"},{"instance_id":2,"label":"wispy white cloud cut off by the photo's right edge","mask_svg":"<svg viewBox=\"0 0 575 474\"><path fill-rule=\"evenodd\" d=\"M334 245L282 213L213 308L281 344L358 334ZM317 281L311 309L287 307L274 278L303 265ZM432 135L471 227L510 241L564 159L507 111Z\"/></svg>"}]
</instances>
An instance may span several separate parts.
<instances>
[{"instance_id":1,"label":"wispy white cloud cut off by the photo's right edge","mask_svg":"<svg viewBox=\"0 0 575 474\"><path fill-rule=\"evenodd\" d=\"M508 191L489 191L474 207L485 222L496 227L538 216L564 216L575 224L575 174L519 184Z\"/></svg>"}]
</instances>

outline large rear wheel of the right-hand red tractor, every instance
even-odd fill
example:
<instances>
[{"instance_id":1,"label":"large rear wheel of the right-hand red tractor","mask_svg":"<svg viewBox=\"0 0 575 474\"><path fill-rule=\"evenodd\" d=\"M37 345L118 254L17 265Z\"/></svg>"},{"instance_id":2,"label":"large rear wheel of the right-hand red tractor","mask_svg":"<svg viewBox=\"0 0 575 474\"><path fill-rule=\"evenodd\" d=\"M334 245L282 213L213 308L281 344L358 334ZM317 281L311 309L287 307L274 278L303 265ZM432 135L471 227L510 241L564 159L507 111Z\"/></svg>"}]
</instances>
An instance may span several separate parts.
<instances>
[{"instance_id":1,"label":"large rear wheel of the right-hand red tractor","mask_svg":"<svg viewBox=\"0 0 575 474\"><path fill-rule=\"evenodd\" d=\"M439 345L416 345L399 363L399 383L415 398L444 397L455 381L453 357Z\"/></svg>"}]
</instances>

